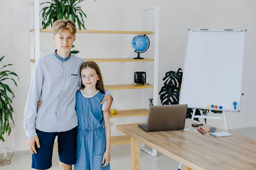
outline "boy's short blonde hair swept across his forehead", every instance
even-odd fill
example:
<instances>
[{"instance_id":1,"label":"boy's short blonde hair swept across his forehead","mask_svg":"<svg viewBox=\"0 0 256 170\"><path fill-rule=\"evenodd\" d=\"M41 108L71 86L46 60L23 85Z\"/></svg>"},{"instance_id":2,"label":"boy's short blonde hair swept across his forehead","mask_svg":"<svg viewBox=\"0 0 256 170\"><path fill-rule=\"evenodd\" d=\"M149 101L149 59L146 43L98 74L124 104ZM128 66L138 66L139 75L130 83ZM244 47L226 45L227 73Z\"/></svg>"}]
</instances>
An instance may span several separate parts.
<instances>
[{"instance_id":1,"label":"boy's short blonde hair swept across his forehead","mask_svg":"<svg viewBox=\"0 0 256 170\"><path fill-rule=\"evenodd\" d=\"M73 20L57 20L52 25L52 31L54 35L65 29L70 31L70 34L76 34L76 24Z\"/></svg>"}]
</instances>

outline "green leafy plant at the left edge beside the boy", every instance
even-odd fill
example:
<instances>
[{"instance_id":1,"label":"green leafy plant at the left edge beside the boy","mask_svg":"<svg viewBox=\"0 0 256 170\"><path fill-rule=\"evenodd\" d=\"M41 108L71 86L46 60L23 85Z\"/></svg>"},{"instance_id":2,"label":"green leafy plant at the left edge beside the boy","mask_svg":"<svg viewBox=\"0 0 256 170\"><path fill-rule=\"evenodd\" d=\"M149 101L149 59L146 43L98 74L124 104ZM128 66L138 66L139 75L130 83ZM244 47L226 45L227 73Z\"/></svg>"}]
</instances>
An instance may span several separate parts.
<instances>
[{"instance_id":1,"label":"green leafy plant at the left edge beside the boy","mask_svg":"<svg viewBox=\"0 0 256 170\"><path fill-rule=\"evenodd\" d=\"M0 58L0 62L2 61L2 59L5 56ZM2 68L0 68L0 71L6 67L12 64L8 64L8 65L4 65ZM17 83L15 82L15 80L13 78L10 78L10 76L15 76L18 78L18 80L20 80L20 78L17 76L17 74L15 74L14 72L11 71L1 71L0 72L0 141L2 140L3 142L5 141L3 139L3 134L7 133L8 131L8 135L10 135L11 133L11 126L9 124L9 119L12 120L12 122L14 123L13 119L12 119L12 112L13 112L13 108L12 108L12 98L15 97L14 93L12 92L11 88L9 87L9 85L4 83L4 80L10 79L14 82L14 84L17 86ZM9 96L9 95L12 95Z\"/></svg>"}]
</instances>

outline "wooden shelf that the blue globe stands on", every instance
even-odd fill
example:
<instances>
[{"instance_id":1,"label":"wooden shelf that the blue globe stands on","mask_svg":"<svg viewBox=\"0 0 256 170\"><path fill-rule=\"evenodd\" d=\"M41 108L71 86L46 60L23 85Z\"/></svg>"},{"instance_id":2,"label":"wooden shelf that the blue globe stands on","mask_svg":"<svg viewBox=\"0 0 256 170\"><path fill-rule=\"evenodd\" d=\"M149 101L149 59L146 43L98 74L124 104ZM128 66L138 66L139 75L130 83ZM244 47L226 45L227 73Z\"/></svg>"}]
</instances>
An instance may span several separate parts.
<instances>
[{"instance_id":1,"label":"wooden shelf that the blue globe stands on","mask_svg":"<svg viewBox=\"0 0 256 170\"><path fill-rule=\"evenodd\" d=\"M94 62L143 62L143 61L154 61L154 59L144 58L144 59L132 59L132 58L110 58L110 59L83 59L84 61L94 61ZM35 59L30 59L31 62L35 62Z\"/></svg>"}]
</instances>

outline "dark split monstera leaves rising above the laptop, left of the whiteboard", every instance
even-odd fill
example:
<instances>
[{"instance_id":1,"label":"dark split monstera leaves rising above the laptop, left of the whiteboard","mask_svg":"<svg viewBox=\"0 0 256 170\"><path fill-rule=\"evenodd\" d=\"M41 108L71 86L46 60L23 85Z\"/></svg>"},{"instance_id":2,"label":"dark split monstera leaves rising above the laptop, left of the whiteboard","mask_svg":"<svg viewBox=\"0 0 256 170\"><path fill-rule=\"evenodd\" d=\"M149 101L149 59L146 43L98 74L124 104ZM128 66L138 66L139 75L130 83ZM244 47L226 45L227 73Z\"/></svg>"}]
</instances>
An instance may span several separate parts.
<instances>
[{"instance_id":1,"label":"dark split monstera leaves rising above the laptop, left of the whiteboard","mask_svg":"<svg viewBox=\"0 0 256 170\"><path fill-rule=\"evenodd\" d=\"M163 78L163 81L165 81L164 86L159 92L162 105L179 104L182 74L181 68L179 68L177 72L169 71L166 73L166 76Z\"/></svg>"}]
</instances>

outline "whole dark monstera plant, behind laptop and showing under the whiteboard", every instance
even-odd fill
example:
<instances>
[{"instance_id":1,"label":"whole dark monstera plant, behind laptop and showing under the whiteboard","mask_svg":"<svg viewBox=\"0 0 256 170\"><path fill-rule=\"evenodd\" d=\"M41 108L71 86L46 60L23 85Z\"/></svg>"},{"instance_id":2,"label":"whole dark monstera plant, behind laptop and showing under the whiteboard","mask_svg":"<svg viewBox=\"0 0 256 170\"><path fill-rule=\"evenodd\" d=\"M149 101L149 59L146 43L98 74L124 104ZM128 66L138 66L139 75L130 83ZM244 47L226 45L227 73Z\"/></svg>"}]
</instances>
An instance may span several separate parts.
<instances>
[{"instance_id":1,"label":"whole dark monstera plant, behind laptop and showing under the whiteboard","mask_svg":"<svg viewBox=\"0 0 256 170\"><path fill-rule=\"evenodd\" d=\"M160 100L162 105L178 105L180 99L180 87L182 82L182 69L179 68L177 72L169 71L166 73L166 76L163 78L164 86L161 88ZM198 82L200 83L200 82ZM222 113L222 111L211 111L213 113ZM186 118L192 118L193 109L188 108ZM195 115L207 115L209 110L207 109L196 109ZM194 118L199 121L198 118ZM206 123L206 119L204 119Z\"/></svg>"}]
</instances>

